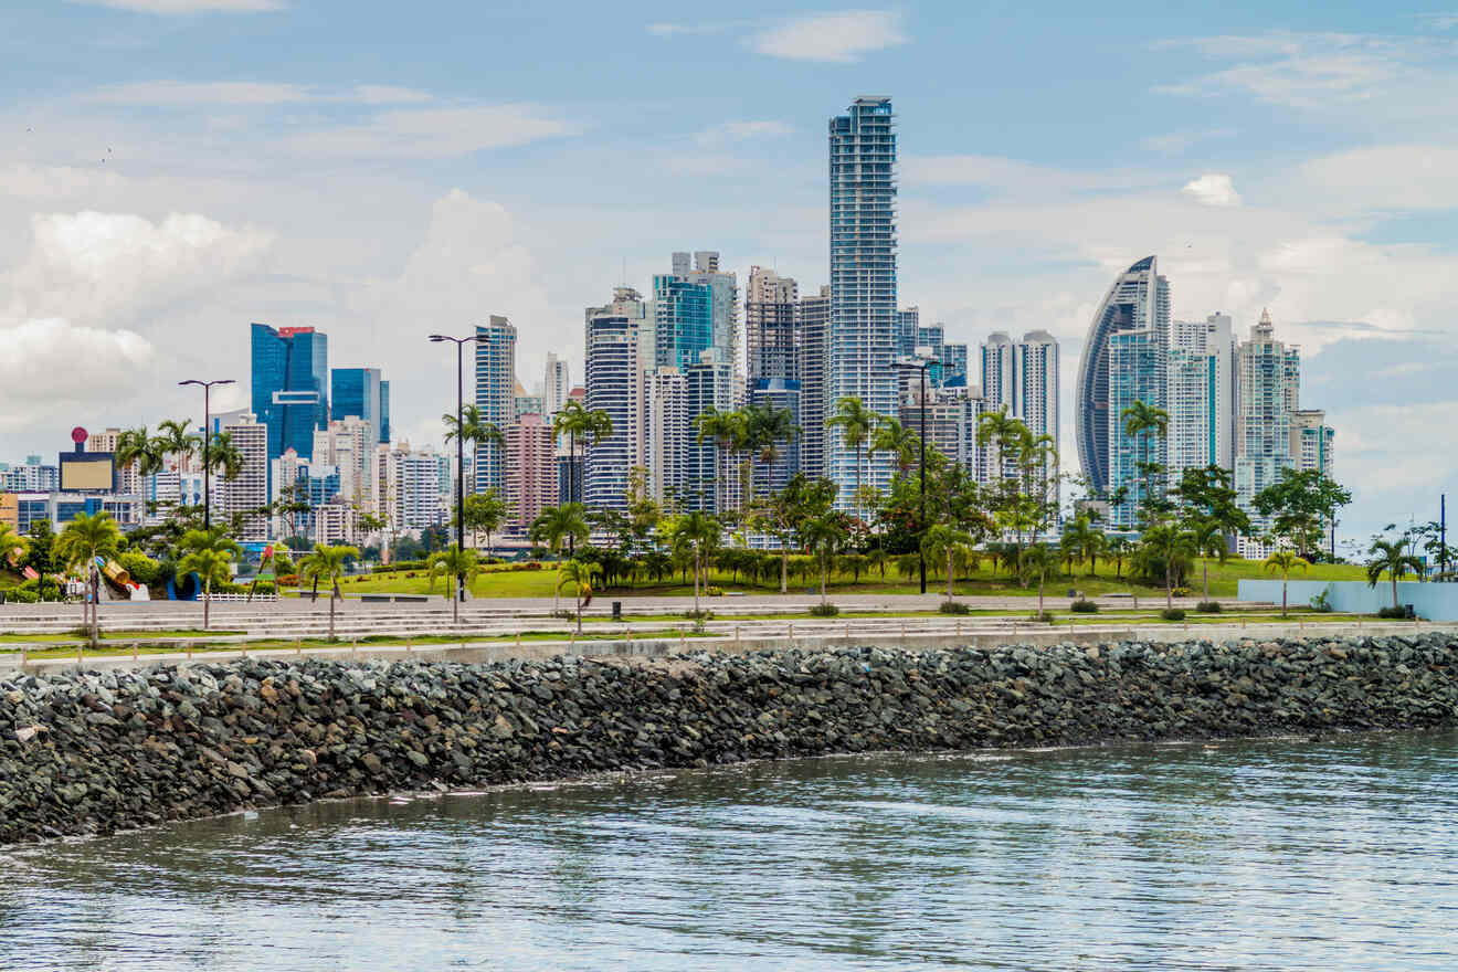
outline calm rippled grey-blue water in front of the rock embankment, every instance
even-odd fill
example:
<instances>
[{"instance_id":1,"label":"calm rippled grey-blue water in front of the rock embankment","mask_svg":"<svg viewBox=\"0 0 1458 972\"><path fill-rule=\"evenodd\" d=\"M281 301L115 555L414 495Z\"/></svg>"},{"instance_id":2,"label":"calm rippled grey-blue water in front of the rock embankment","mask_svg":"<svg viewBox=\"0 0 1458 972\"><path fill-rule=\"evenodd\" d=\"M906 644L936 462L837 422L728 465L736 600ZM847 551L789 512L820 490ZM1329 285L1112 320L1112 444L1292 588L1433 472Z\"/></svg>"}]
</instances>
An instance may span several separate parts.
<instances>
[{"instance_id":1,"label":"calm rippled grey-blue water in front of the rock embankment","mask_svg":"<svg viewBox=\"0 0 1458 972\"><path fill-rule=\"evenodd\" d=\"M351 801L0 869L7 971L1451 971L1458 734Z\"/></svg>"}]
</instances>

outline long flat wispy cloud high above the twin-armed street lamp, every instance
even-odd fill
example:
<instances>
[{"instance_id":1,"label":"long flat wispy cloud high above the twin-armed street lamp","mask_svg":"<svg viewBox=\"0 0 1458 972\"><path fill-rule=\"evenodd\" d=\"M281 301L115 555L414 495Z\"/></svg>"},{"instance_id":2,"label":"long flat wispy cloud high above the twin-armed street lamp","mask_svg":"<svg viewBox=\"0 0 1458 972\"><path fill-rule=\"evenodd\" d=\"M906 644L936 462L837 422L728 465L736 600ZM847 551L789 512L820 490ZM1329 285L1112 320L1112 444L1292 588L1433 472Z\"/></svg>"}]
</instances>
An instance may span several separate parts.
<instances>
[{"instance_id":1,"label":"long flat wispy cloud high above the twin-armed street lamp","mask_svg":"<svg viewBox=\"0 0 1458 972\"><path fill-rule=\"evenodd\" d=\"M573 134L537 105L386 111L357 125L293 136L287 147L313 157L449 159Z\"/></svg>"}]
</instances>

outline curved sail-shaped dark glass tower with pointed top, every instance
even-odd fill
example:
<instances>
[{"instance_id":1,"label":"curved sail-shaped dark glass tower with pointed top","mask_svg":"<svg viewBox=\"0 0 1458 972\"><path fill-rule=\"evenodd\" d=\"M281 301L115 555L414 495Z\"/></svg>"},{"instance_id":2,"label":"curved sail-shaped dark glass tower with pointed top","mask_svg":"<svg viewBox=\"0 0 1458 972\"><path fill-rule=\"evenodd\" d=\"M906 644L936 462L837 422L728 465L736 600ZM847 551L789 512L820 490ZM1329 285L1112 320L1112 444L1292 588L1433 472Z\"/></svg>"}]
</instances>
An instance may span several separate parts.
<instances>
[{"instance_id":1,"label":"curved sail-shaped dark glass tower with pointed top","mask_svg":"<svg viewBox=\"0 0 1458 972\"><path fill-rule=\"evenodd\" d=\"M1110 338L1126 331L1146 331L1159 344L1168 341L1169 281L1159 275L1153 256L1145 256L1114 280L1094 312L1083 342L1073 436L1091 495L1110 493L1112 421L1118 420L1110 411Z\"/></svg>"}]
</instances>

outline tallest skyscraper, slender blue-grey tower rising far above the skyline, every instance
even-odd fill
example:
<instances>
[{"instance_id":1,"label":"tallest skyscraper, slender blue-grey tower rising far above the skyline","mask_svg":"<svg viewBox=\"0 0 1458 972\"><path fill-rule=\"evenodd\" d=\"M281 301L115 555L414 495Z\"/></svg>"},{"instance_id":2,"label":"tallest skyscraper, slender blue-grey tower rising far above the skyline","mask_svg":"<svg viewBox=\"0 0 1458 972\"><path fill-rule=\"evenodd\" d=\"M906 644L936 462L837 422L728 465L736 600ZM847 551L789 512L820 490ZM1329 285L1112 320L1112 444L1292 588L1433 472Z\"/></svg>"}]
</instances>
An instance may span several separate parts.
<instances>
[{"instance_id":1,"label":"tallest skyscraper, slender blue-grey tower rising far above the skyline","mask_svg":"<svg viewBox=\"0 0 1458 972\"><path fill-rule=\"evenodd\" d=\"M857 98L830 119L830 361L827 409L846 396L882 415L897 409L897 137L889 98ZM828 436L837 506L854 509L856 450ZM892 458L865 462L865 485L891 485Z\"/></svg>"}]
</instances>

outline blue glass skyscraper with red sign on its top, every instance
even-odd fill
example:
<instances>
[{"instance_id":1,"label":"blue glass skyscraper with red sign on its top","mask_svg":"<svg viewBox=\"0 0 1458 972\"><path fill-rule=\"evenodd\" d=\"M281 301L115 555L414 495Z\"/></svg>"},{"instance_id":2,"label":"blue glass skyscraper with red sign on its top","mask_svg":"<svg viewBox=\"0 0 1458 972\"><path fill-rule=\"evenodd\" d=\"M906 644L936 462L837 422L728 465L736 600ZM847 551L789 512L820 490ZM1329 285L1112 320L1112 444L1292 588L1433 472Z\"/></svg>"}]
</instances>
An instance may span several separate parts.
<instances>
[{"instance_id":1,"label":"blue glass skyscraper with red sign on its top","mask_svg":"<svg viewBox=\"0 0 1458 972\"><path fill-rule=\"evenodd\" d=\"M252 325L252 414L268 428L268 458L313 456L313 430L330 424L328 338L313 328Z\"/></svg>"}]
</instances>

